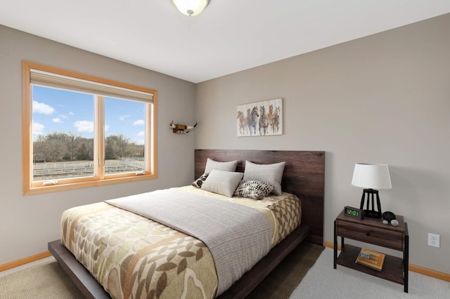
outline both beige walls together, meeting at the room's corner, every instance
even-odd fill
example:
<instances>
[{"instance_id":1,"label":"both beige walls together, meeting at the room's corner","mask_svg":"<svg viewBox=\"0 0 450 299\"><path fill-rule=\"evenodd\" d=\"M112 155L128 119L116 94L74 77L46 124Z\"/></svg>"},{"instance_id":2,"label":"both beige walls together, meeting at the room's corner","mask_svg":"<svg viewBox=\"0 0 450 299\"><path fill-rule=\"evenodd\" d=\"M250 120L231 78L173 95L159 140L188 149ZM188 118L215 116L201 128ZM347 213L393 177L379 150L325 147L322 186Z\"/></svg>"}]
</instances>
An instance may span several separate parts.
<instances>
[{"instance_id":1,"label":"both beige walls together, meeting at the room's corner","mask_svg":"<svg viewBox=\"0 0 450 299\"><path fill-rule=\"evenodd\" d=\"M0 265L46 251L66 208L188 184L195 147L325 150L326 241L343 206L359 205L354 163L387 163L382 206L408 221L411 263L450 273L449 27L444 15L195 86L0 26ZM23 197L22 60L156 89L158 179ZM283 98L284 134L237 138L236 105L273 98ZM172 119L199 125L175 135ZM427 246L428 232L441 248Z\"/></svg>"}]
</instances>

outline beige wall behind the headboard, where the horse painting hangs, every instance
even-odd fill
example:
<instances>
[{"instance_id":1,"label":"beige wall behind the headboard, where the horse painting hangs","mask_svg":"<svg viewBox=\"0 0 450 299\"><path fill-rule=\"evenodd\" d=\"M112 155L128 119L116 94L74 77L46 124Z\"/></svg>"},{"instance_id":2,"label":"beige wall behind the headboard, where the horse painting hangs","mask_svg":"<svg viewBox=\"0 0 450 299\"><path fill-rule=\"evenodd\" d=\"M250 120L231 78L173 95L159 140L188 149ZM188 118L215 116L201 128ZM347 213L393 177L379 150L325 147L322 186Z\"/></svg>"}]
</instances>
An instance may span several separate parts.
<instances>
[{"instance_id":1,"label":"beige wall behind the headboard, where the horse painting hangs","mask_svg":"<svg viewBox=\"0 0 450 299\"><path fill-rule=\"evenodd\" d=\"M450 274L449 28L447 14L198 84L195 148L326 151L330 242L336 215L359 206L354 164L389 164L380 199L409 224L410 263ZM284 134L236 137L236 105L274 98Z\"/></svg>"}]
</instances>

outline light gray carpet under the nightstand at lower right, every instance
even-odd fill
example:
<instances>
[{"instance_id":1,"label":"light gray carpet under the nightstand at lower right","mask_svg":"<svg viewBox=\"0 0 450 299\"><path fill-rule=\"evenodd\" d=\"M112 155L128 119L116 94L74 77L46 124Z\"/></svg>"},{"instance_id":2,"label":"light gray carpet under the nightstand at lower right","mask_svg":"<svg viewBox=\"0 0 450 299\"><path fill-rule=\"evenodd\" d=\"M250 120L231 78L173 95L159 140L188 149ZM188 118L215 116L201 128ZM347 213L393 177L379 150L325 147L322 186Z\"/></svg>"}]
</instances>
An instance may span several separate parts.
<instances>
[{"instance_id":1,"label":"light gray carpet under the nightstand at lower right","mask_svg":"<svg viewBox=\"0 0 450 299\"><path fill-rule=\"evenodd\" d=\"M325 248L290 296L290 299L300 298L449 299L450 282L410 271L409 293L404 293L400 284L340 265L333 269L333 249Z\"/></svg>"}]
</instances>

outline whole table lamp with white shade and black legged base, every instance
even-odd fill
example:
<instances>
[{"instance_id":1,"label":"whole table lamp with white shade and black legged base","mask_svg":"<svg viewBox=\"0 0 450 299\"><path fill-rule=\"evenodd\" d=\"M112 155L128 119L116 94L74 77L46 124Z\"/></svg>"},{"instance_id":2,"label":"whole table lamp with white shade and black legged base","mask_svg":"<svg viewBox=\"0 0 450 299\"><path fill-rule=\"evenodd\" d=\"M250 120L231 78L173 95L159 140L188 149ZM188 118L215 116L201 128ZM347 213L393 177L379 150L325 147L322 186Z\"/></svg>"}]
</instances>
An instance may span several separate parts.
<instances>
[{"instance_id":1,"label":"whole table lamp with white shade and black legged base","mask_svg":"<svg viewBox=\"0 0 450 299\"><path fill-rule=\"evenodd\" d=\"M364 201L367 195L366 209L364 216L371 218L381 218L381 204L378 190L391 189L391 177L387 164L364 164L356 163L353 171L352 185L364 188L361 197L361 210L364 208ZM377 200L377 209L375 209L375 199Z\"/></svg>"}]
</instances>

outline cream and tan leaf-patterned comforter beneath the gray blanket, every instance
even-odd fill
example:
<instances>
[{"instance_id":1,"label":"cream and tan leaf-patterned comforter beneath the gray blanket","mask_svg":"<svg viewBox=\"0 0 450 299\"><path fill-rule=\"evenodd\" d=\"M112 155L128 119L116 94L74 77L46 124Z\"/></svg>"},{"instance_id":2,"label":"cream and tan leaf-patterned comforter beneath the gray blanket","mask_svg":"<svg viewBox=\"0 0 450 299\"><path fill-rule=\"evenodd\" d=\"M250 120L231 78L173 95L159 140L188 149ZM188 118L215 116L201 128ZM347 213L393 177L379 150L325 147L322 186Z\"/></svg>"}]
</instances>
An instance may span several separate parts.
<instances>
[{"instance_id":1,"label":"cream and tan leaf-patterned comforter beneath the gray blanket","mask_svg":"<svg viewBox=\"0 0 450 299\"><path fill-rule=\"evenodd\" d=\"M300 225L292 194L262 200L224 197L192 186L174 188L261 211L272 246ZM61 241L113 298L214 298L217 273L202 241L104 202L70 208Z\"/></svg>"}]
</instances>

